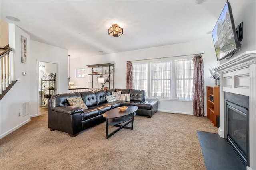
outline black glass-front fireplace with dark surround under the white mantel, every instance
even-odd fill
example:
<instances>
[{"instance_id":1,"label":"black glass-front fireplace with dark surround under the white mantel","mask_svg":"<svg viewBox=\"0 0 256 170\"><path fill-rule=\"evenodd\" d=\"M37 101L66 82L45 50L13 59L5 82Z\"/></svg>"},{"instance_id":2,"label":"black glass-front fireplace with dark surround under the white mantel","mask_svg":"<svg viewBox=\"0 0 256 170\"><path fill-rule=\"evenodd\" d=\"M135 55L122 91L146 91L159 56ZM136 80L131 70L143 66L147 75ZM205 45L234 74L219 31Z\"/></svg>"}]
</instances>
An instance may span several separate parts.
<instances>
[{"instance_id":1,"label":"black glass-front fireplace with dark surround under the white mantel","mask_svg":"<svg viewBox=\"0 0 256 170\"><path fill-rule=\"evenodd\" d=\"M230 94L226 94L225 92L225 118L226 118L226 140L232 146L232 148L236 151L242 162L246 166L249 166L248 162L248 150L249 150L249 127L248 127L248 114L249 114L249 98L248 104L247 97L244 98L243 95L231 94L235 95L235 99L226 97ZM242 98L239 98L242 97ZM232 100L230 102L229 100ZM239 100L242 100L239 102ZM236 102L236 103L234 103ZM242 104L242 106L240 106Z\"/></svg>"}]
</instances>

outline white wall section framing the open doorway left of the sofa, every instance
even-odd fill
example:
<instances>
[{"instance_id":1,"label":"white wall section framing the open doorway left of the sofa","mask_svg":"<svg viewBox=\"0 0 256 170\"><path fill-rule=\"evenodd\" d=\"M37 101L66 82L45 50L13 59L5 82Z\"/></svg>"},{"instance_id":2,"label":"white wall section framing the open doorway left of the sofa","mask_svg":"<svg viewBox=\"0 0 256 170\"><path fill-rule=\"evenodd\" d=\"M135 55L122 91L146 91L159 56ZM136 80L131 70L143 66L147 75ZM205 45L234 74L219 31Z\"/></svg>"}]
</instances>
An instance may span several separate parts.
<instances>
[{"instance_id":1,"label":"white wall section framing the open doorway left of the sofa","mask_svg":"<svg viewBox=\"0 0 256 170\"><path fill-rule=\"evenodd\" d=\"M31 117L39 115L39 62L58 64L56 93L68 92L68 50L30 40L30 100Z\"/></svg>"}]
</instances>

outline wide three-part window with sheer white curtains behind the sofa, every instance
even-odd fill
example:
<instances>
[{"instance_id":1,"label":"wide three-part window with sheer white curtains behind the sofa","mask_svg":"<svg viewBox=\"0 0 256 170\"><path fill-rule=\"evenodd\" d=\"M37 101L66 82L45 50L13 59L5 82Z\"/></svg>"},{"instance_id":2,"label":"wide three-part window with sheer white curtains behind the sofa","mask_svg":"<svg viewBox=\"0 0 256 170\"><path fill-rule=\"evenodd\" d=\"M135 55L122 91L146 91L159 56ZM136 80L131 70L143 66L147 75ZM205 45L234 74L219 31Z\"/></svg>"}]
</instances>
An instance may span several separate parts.
<instances>
[{"instance_id":1,"label":"wide three-part window with sheer white curtains behind the sofa","mask_svg":"<svg viewBox=\"0 0 256 170\"><path fill-rule=\"evenodd\" d=\"M147 98L192 100L192 59L133 63L134 89L144 89Z\"/></svg>"}]
</instances>

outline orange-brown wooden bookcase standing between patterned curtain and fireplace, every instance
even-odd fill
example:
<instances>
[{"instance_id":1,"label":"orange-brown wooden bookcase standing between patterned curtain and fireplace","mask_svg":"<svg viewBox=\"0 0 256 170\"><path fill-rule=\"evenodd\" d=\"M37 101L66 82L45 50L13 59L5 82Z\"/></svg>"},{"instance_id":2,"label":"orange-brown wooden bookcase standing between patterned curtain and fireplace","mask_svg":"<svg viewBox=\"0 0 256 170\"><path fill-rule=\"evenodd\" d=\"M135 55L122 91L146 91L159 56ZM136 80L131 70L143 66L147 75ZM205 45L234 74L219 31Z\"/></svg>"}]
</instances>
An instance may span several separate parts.
<instances>
[{"instance_id":1,"label":"orange-brown wooden bookcase standing between patterned curtain and fireplace","mask_svg":"<svg viewBox=\"0 0 256 170\"><path fill-rule=\"evenodd\" d=\"M217 126L217 116L220 115L220 87L207 86L207 118Z\"/></svg>"}]
</instances>

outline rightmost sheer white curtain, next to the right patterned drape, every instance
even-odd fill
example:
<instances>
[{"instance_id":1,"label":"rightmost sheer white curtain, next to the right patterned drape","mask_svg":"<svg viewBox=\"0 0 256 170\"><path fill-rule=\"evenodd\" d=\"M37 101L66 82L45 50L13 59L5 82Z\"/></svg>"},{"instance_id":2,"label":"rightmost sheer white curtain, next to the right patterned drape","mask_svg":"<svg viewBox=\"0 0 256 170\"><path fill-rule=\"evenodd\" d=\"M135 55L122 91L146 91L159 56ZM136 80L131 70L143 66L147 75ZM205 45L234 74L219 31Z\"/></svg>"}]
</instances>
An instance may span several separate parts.
<instances>
[{"instance_id":1,"label":"rightmost sheer white curtain, next to the right patterned drape","mask_svg":"<svg viewBox=\"0 0 256 170\"><path fill-rule=\"evenodd\" d=\"M176 98L193 99L194 64L192 59L175 60L176 67Z\"/></svg>"}]
</instances>

